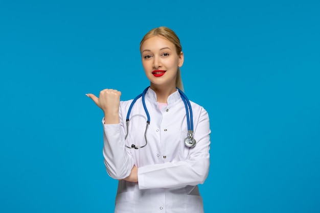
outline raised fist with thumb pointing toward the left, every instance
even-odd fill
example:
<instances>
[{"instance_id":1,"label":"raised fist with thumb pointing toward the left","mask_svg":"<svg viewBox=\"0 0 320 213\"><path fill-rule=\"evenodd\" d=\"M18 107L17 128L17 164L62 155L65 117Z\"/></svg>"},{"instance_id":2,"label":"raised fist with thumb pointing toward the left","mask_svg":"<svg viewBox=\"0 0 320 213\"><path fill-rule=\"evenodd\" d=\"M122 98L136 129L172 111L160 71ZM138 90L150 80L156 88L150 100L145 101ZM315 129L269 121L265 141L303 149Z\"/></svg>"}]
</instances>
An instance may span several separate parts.
<instances>
[{"instance_id":1,"label":"raised fist with thumb pointing toward the left","mask_svg":"<svg viewBox=\"0 0 320 213\"><path fill-rule=\"evenodd\" d=\"M100 91L99 98L94 94L86 94L104 112L105 124L119 124L119 107L121 91L104 89Z\"/></svg>"}]
</instances>

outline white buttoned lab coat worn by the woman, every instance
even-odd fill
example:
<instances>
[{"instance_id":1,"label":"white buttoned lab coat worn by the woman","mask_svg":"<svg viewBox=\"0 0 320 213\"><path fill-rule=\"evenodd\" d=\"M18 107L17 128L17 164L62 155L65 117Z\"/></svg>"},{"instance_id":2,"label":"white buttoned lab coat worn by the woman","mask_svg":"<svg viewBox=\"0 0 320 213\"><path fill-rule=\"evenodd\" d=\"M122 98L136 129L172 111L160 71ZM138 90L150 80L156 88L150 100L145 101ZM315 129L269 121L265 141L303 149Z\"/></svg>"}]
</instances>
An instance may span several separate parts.
<instances>
[{"instance_id":1,"label":"white buttoned lab coat worn by the woman","mask_svg":"<svg viewBox=\"0 0 320 213\"><path fill-rule=\"evenodd\" d=\"M156 94L148 89L145 103L150 114L148 144L141 149L128 149L125 144L143 146L147 116L141 98L130 113L129 134L126 116L130 101L120 103L120 124L104 125L103 156L107 173L119 179L115 212L171 213L203 212L197 184L202 184L209 172L210 125L208 112L191 102L194 138L197 144L188 148L186 108L178 91L168 98L168 106L158 108ZM138 167L139 183L120 180Z\"/></svg>"}]
</instances>

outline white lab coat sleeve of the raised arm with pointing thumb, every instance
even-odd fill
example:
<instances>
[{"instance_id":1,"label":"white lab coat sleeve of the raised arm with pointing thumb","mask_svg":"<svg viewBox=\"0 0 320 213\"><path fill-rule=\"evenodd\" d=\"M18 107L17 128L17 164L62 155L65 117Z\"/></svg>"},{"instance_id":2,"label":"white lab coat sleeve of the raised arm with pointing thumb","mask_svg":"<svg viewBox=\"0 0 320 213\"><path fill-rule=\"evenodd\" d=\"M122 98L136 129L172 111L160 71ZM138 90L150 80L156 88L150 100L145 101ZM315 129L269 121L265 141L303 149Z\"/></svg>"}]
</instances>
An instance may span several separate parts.
<instances>
[{"instance_id":1,"label":"white lab coat sleeve of the raised arm with pointing thumb","mask_svg":"<svg viewBox=\"0 0 320 213\"><path fill-rule=\"evenodd\" d=\"M134 165L130 150L125 148L124 125L120 113L119 124L104 124L103 119L103 157L108 175L113 179L124 179L131 173Z\"/></svg>"}]
</instances>

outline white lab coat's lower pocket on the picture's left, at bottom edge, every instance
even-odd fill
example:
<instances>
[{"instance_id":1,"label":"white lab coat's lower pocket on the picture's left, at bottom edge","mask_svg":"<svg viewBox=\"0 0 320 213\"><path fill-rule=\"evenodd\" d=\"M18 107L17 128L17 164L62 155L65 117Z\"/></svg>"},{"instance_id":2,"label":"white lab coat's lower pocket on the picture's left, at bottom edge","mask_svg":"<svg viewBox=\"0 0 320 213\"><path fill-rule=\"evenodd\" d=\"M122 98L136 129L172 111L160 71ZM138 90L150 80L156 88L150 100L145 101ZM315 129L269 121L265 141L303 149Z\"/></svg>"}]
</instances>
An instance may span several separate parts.
<instances>
[{"instance_id":1,"label":"white lab coat's lower pocket on the picture's left, at bottom edge","mask_svg":"<svg viewBox=\"0 0 320 213\"><path fill-rule=\"evenodd\" d=\"M132 212L132 209L134 209L133 195L134 192L123 192L117 194L115 213Z\"/></svg>"}]
</instances>

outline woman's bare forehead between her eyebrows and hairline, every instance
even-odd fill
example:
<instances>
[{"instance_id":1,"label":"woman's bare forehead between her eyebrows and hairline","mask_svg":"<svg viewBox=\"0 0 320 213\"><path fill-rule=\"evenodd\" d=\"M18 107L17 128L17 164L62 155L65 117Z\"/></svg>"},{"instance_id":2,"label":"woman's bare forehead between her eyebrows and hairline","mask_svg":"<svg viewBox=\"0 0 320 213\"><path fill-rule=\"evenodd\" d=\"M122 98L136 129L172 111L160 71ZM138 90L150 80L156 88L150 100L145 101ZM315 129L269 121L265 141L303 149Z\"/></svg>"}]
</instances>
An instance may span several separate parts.
<instances>
[{"instance_id":1,"label":"woman's bare forehead between her eyebrows and hairline","mask_svg":"<svg viewBox=\"0 0 320 213\"><path fill-rule=\"evenodd\" d=\"M171 50L175 50L175 46L171 41L163 36L157 35L146 39L141 45L141 51L156 51L163 48L170 48Z\"/></svg>"}]
</instances>

